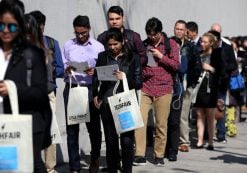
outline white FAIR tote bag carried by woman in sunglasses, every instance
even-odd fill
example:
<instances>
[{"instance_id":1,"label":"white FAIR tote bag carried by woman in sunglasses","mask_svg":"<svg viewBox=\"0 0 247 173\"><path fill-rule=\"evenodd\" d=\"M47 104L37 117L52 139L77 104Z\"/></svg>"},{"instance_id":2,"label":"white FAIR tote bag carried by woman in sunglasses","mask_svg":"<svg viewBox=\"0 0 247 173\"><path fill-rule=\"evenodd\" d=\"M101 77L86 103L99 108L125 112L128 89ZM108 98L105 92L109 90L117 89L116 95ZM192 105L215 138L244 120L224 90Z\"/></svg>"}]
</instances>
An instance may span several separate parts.
<instances>
[{"instance_id":1,"label":"white FAIR tote bag carried by woman in sunglasses","mask_svg":"<svg viewBox=\"0 0 247 173\"><path fill-rule=\"evenodd\" d=\"M32 116L19 114L15 83L4 82L12 115L0 114L0 172L33 172Z\"/></svg>"}]
</instances>

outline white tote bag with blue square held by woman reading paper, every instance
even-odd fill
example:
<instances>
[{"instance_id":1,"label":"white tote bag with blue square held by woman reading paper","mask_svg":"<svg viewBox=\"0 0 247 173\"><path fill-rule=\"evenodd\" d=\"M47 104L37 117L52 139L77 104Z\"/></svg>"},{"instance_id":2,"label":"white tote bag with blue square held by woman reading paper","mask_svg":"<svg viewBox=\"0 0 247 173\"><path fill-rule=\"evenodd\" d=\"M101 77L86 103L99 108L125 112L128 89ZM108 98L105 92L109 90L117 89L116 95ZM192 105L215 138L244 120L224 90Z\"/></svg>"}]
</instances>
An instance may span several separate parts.
<instances>
[{"instance_id":1,"label":"white tote bag with blue square held by woman reading paper","mask_svg":"<svg viewBox=\"0 0 247 173\"><path fill-rule=\"evenodd\" d=\"M124 75L124 92L115 94L119 83L120 81L117 81L113 91L113 96L108 97L108 102L116 130L120 134L143 127L144 124L135 90L129 90L128 82Z\"/></svg>"}]
</instances>

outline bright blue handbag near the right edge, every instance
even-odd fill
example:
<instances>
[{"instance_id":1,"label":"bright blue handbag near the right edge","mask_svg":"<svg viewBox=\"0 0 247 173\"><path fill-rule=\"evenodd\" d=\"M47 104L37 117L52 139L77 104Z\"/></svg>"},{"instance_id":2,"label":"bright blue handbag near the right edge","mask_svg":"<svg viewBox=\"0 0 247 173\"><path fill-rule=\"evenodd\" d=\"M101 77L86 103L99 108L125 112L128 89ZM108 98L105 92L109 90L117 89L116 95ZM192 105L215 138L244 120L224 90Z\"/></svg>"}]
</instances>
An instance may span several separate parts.
<instances>
[{"instance_id":1,"label":"bright blue handbag near the right edge","mask_svg":"<svg viewBox=\"0 0 247 173\"><path fill-rule=\"evenodd\" d=\"M245 89L244 78L238 73L230 78L230 92L241 92Z\"/></svg>"}]
</instances>

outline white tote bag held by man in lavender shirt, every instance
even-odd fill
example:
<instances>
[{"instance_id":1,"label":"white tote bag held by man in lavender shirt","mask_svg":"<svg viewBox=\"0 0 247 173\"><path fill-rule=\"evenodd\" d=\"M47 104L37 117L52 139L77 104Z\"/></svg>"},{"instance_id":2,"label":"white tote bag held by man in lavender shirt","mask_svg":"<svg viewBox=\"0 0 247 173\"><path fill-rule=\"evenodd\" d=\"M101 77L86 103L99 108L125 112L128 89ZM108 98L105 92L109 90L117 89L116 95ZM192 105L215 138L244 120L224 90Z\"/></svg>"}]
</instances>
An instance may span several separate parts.
<instances>
[{"instance_id":1,"label":"white tote bag held by man in lavender shirt","mask_svg":"<svg viewBox=\"0 0 247 173\"><path fill-rule=\"evenodd\" d=\"M70 77L69 97L67 106L68 125L80 124L90 121L88 88L80 86L78 81L76 81L78 86L71 88L72 77L74 77L74 79L76 80L76 77L73 72Z\"/></svg>"}]
</instances>

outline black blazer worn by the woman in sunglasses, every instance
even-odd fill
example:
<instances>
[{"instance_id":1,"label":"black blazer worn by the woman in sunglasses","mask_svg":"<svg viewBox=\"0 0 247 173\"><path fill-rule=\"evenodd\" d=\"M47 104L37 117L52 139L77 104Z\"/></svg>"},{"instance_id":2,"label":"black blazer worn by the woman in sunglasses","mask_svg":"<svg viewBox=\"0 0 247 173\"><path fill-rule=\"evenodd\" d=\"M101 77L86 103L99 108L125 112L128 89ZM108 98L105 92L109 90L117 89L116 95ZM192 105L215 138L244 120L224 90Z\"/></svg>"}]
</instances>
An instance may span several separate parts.
<instances>
[{"instance_id":1,"label":"black blazer worn by the woman in sunglasses","mask_svg":"<svg viewBox=\"0 0 247 173\"><path fill-rule=\"evenodd\" d=\"M27 66L25 56L32 60L31 86L27 85ZM8 64L5 80L12 80L17 87L19 111L32 114L33 133L49 131L51 110L47 92L47 71L42 49L28 45L19 53L13 52ZM11 113L9 97L3 100L4 112Z\"/></svg>"}]
</instances>

